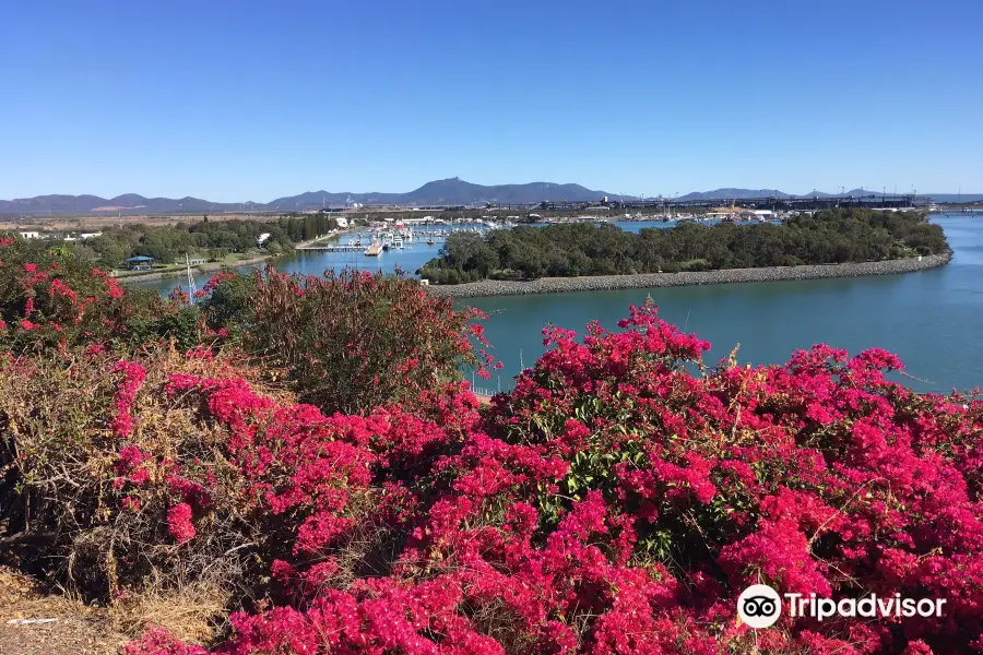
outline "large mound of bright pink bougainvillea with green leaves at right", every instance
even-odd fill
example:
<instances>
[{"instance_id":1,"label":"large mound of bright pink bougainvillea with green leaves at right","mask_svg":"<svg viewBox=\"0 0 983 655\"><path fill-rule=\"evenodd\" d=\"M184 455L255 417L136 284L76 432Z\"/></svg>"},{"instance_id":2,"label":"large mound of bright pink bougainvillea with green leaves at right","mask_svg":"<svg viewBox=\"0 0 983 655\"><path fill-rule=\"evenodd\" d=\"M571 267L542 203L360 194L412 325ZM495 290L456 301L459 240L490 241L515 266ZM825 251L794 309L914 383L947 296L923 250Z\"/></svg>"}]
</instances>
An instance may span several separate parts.
<instances>
[{"instance_id":1,"label":"large mound of bright pink bougainvillea with green leaves at right","mask_svg":"<svg viewBox=\"0 0 983 655\"><path fill-rule=\"evenodd\" d=\"M703 581L683 600L700 622L708 609L730 614L758 581L838 598L948 598L941 620L787 622L789 647L900 652L924 639L948 653L980 636L981 403L887 381L900 364L880 350L846 359L817 346L784 367L725 362L691 378L677 362L703 344L651 310L623 326L644 334L594 325L578 344L552 330L554 349L496 398L509 441L570 463L557 496L534 496L546 516L572 498L628 521L637 562ZM819 648L804 632L817 628L844 643Z\"/></svg>"}]
</instances>

